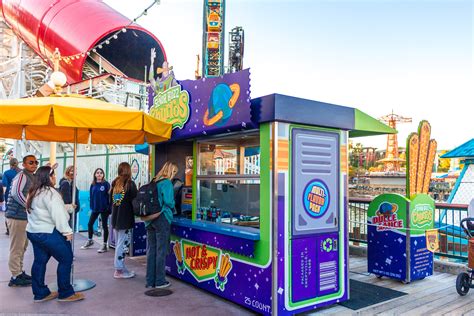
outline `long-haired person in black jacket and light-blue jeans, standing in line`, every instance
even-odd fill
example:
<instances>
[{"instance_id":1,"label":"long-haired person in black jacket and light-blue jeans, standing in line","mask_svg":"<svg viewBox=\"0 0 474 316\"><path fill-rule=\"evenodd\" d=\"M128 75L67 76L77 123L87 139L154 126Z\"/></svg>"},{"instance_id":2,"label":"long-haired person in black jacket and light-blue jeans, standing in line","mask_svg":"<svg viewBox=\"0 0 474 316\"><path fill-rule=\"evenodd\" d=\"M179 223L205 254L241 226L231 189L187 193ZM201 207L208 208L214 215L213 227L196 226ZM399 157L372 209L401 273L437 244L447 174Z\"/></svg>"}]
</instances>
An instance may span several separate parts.
<instances>
[{"instance_id":1,"label":"long-haired person in black jacket and light-blue jeans, standing in line","mask_svg":"<svg viewBox=\"0 0 474 316\"><path fill-rule=\"evenodd\" d=\"M118 176L112 181L110 190L112 205L112 227L115 230L115 272L116 279L129 279L135 272L125 266L126 249L130 247L129 231L135 225L132 201L137 196L137 186L132 180L130 164L122 162L118 166Z\"/></svg>"}]
</instances>

